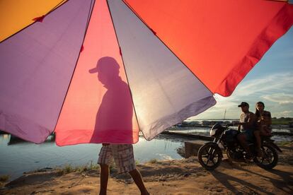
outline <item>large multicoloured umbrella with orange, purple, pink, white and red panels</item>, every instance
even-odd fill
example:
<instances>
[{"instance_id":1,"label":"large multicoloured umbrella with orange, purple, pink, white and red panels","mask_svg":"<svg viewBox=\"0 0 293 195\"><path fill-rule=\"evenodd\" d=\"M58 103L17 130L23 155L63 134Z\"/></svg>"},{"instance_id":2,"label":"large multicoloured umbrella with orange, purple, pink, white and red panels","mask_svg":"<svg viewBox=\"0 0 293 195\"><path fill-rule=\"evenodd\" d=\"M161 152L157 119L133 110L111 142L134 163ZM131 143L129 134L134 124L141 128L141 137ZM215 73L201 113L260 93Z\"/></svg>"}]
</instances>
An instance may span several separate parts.
<instances>
[{"instance_id":1,"label":"large multicoloured umbrella with orange, purple, pink, white and red panels","mask_svg":"<svg viewBox=\"0 0 293 195\"><path fill-rule=\"evenodd\" d=\"M0 1L0 129L136 143L212 107L289 30L265 0Z\"/></svg>"}]
</instances>

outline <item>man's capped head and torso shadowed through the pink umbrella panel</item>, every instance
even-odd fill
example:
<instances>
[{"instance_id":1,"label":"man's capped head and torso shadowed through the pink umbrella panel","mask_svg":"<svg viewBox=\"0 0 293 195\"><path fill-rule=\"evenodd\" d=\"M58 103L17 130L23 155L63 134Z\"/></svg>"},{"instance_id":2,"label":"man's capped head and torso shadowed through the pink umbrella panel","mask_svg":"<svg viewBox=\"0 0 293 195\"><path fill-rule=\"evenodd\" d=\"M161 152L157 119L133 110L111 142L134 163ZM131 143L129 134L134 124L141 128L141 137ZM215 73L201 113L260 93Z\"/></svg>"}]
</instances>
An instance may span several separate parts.
<instances>
[{"instance_id":1,"label":"man's capped head and torso shadowed through the pink umbrella panel","mask_svg":"<svg viewBox=\"0 0 293 195\"><path fill-rule=\"evenodd\" d=\"M107 88L98 107L93 142L110 143L114 136L120 143L132 143L132 99L127 83L119 76L119 69L115 59L103 57L96 68L89 70L98 73L98 81Z\"/></svg>"}]
</instances>

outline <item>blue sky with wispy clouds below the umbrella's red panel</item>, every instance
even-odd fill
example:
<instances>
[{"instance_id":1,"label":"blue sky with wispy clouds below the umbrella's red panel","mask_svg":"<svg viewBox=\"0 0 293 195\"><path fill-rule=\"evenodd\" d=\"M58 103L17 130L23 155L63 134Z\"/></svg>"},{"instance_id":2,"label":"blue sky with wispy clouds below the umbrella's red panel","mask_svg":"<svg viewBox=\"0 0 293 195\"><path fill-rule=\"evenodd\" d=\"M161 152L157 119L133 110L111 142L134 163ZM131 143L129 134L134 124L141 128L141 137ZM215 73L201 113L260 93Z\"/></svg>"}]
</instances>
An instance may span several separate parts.
<instances>
[{"instance_id":1,"label":"blue sky with wispy clouds below the umbrella's red panel","mask_svg":"<svg viewBox=\"0 0 293 195\"><path fill-rule=\"evenodd\" d=\"M217 105L190 119L239 119L241 102L264 102L272 117L293 117L293 27L280 37L229 97L214 95Z\"/></svg>"}]
</instances>

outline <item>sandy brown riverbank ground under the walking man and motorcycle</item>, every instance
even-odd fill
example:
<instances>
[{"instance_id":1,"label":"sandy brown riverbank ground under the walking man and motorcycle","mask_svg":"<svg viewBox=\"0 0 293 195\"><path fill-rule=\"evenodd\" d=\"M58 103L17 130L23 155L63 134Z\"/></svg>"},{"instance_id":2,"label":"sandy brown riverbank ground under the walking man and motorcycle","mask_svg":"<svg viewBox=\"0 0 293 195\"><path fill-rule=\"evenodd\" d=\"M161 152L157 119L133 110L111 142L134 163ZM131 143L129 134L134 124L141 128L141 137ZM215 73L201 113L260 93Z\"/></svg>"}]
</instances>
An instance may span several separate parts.
<instances>
[{"instance_id":1,"label":"sandy brown riverbank ground under the walking man and motorcycle","mask_svg":"<svg viewBox=\"0 0 293 195\"><path fill-rule=\"evenodd\" d=\"M253 163L229 162L212 172L204 170L197 158L151 160L137 165L151 194L293 194L293 143L281 146L279 164L263 170ZM96 168L96 167L95 167ZM47 170L23 175L0 194L98 194L99 170ZM128 175L111 169L108 194L139 194Z\"/></svg>"}]
</instances>

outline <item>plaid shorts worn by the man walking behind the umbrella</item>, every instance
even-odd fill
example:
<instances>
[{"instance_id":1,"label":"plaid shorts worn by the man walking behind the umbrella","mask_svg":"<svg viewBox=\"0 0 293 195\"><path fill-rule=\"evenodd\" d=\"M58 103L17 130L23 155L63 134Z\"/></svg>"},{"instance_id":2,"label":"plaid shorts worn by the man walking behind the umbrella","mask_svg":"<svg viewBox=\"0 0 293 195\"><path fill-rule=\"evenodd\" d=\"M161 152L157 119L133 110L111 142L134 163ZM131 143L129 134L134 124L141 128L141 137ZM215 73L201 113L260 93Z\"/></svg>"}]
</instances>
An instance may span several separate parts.
<instances>
[{"instance_id":1,"label":"plaid shorts worn by the man walking behind the umbrella","mask_svg":"<svg viewBox=\"0 0 293 195\"><path fill-rule=\"evenodd\" d=\"M130 172L136 168L132 144L109 144L100 148L98 164L110 165L113 158L119 173Z\"/></svg>"}]
</instances>

